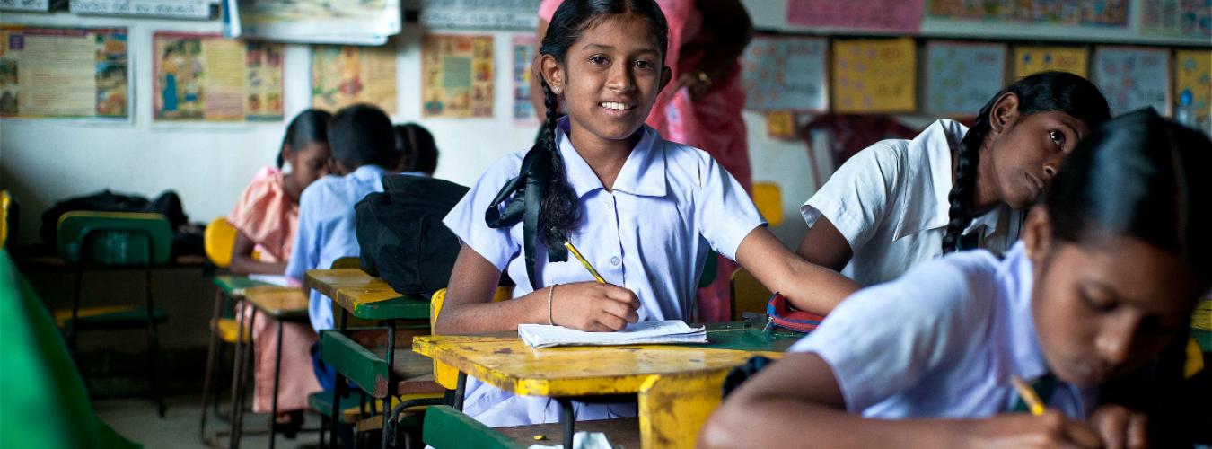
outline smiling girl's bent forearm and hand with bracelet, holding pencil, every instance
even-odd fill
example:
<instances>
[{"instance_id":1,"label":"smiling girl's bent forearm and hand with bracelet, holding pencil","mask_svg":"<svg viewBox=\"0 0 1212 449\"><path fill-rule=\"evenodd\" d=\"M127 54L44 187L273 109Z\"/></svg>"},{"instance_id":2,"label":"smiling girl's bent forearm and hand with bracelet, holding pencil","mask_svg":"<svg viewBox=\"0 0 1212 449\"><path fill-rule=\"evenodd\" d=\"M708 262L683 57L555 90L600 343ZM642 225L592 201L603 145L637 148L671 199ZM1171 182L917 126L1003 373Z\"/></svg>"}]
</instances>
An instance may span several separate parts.
<instances>
[{"instance_id":1,"label":"smiling girl's bent forearm and hand with bracelet, holding pencil","mask_svg":"<svg viewBox=\"0 0 1212 449\"><path fill-rule=\"evenodd\" d=\"M509 301L492 302L501 271L470 246L454 261L446 300L434 334L514 331L519 324L548 324L548 295L543 288ZM526 282L522 279L522 282ZM555 324L588 331L622 330L640 319L640 300L628 289L582 282L555 286L551 297Z\"/></svg>"}]
</instances>

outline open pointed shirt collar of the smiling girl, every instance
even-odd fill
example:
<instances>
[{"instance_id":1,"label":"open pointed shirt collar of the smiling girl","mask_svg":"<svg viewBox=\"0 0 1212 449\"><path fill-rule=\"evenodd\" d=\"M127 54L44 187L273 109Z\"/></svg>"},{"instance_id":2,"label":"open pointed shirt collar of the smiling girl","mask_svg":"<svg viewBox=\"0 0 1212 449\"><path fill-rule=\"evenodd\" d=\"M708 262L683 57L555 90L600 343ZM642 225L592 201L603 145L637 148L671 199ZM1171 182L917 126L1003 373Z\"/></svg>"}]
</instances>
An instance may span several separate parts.
<instances>
[{"instance_id":1,"label":"open pointed shirt collar of the smiling girl","mask_svg":"<svg viewBox=\"0 0 1212 449\"><path fill-rule=\"evenodd\" d=\"M556 125L555 144L564 157L568 184L577 193L577 198L596 189L605 189L598 180L598 174L594 174L589 163L572 147L572 140L568 138L568 118L561 118ZM631 154L628 154L618 177L614 178L614 191L644 197L664 197L665 152L661 133L648 125L644 125L636 132L641 132L642 136L631 148Z\"/></svg>"}]
</instances>

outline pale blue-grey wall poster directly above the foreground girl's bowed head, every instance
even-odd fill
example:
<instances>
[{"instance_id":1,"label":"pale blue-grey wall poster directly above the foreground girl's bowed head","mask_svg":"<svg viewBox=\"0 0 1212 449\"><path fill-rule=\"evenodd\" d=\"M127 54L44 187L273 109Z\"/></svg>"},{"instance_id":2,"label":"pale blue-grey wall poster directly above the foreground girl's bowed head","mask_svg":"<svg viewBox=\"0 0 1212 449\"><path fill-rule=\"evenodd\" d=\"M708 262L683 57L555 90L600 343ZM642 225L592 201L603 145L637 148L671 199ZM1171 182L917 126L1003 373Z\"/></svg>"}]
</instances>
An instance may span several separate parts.
<instances>
[{"instance_id":1,"label":"pale blue-grey wall poster directly above the foreground girl's bowed head","mask_svg":"<svg viewBox=\"0 0 1212 449\"><path fill-rule=\"evenodd\" d=\"M1149 106L1170 114L1170 50L1102 46L1094 51L1093 72L1111 115Z\"/></svg>"}]
</instances>

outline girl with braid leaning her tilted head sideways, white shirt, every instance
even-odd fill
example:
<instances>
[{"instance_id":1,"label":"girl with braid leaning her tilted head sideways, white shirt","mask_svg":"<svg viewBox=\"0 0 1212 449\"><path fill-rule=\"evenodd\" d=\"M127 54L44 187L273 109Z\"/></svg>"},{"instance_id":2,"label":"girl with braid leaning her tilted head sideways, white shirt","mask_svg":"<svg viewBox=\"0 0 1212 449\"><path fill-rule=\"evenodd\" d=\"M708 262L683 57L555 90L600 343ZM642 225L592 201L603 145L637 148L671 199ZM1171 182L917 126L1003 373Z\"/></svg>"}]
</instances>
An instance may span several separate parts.
<instances>
[{"instance_id":1,"label":"girl with braid leaning her tilted head sideways, white shirt","mask_svg":"<svg viewBox=\"0 0 1212 449\"><path fill-rule=\"evenodd\" d=\"M989 100L971 130L942 119L911 141L881 141L842 164L800 206L808 231L797 252L862 285L944 252L1004 252L1018 240L1023 211L1109 115L1098 87L1081 76L1023 78Z\"/></svg>"}]
</instances>

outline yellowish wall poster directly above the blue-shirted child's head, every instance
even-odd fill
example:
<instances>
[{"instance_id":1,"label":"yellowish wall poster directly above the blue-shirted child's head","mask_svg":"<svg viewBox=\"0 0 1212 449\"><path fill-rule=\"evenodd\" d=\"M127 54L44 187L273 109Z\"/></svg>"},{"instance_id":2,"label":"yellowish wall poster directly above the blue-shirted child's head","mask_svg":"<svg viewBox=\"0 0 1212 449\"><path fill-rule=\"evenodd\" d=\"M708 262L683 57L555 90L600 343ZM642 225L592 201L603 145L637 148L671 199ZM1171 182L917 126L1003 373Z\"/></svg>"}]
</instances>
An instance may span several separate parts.
<instances>
[{"instance_id":1,"label":"yellowish wall poster directly above the blue-shirted child's head","mask_svg":"<svg viewBox=\"0 0 1212 449\"><path fill-rule=\"evenodd\" d=\"M337 112L370 103L388 115L395 108L395 47L311 47L311 107Z\"/></svg>"}]
</instances>

